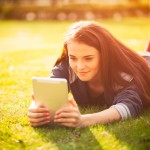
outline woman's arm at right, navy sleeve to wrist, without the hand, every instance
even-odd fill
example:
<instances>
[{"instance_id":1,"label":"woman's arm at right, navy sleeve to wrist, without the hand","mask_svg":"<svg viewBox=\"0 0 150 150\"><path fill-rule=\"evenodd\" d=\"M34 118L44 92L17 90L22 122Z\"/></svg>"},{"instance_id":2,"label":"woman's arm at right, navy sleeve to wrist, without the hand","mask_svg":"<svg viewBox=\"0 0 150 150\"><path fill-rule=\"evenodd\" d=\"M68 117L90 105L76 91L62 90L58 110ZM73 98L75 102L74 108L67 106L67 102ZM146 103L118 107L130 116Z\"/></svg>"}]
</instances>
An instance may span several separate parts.
<instances>
[{"instance_id":1,"label":"woman's arm at right, navy sleeve to wrist, without the hand","mask_svg":"<svg viewBox=\"0 0 150 150\"><path fill-rule=\"evenodd\" d=\"M134 85L124 88L115 97L113 105L99 113L83 115L83 122L92 120L92 124L105 124L117 120L124 120L128 117L140 115L143 105L138 94L137 88Z\"/></svg>"}]
</instances>

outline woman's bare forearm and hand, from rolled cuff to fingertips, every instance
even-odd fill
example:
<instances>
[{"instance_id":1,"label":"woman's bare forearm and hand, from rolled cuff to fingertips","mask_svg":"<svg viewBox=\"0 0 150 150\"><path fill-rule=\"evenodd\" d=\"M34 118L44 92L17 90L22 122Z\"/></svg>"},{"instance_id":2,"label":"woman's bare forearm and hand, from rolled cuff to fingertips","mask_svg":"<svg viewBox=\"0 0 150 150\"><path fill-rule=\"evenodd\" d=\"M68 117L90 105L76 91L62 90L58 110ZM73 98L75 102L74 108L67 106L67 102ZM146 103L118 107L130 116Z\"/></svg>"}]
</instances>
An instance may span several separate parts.
<instances>
[{"instance_id":1,"label":"woman's bare forearm and hand, from rolled cuff to fingertips","mask_svg":"<svg viewBox=\"0 0 150 150\"><path fill-rule=\"evenodd\" d=\"M68 127L86 127L95 124L106 124L121 119L115 108L109 108L98 113L81 115L78 107L73 104L58 110L54 122Z\"/></svg>"}]
</instances>

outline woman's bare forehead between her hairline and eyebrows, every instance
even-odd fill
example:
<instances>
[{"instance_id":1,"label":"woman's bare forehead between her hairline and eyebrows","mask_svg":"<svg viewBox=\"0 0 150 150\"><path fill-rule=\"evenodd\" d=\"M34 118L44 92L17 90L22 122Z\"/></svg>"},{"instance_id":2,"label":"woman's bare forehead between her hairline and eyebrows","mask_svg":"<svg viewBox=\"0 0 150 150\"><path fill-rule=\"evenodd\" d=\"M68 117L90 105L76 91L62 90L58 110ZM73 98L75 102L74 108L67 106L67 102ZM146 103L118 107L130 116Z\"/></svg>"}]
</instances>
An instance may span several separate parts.
<instances>
[{"instance_id":1,"label":"woman's bare forehead between her hairline and eyebrows","mask_svg":"<svg viewBox=\"0 0 150 150\"><path fill-rule=\"evenodd\" d=\"M67 44L68 55L86 56L86 55L99 55L99 51L87 44L81 42L71 41Z\"/></svg>"}]
</instances>

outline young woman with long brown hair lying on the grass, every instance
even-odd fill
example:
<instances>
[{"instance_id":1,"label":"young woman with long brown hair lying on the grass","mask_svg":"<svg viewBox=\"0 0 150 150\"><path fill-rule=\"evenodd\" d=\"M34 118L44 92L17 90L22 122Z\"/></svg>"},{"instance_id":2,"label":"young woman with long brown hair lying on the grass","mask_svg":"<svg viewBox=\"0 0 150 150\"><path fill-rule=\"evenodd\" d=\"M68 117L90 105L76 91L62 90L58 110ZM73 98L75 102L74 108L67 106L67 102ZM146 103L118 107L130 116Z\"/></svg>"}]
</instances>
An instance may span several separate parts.
<instances>
[{"instance_id":1,"label":"young woman with long brown hair lying on the grass","mask_svg":"<svg viewBox=\"0 0 150 150\"><path fill-rule=\"evenodd\" d=\"M111 123L138 116L150 106L148 63L92 21L77 22L70 28L51 78L66 78L79 106L107 106L103 111L82 115L72 101L72 106L55 113L54 122L59 125ZM32 106L28 117L31 126L41 126L50 122L51 113L44 106Z\"/></svg>"}]
</instances>

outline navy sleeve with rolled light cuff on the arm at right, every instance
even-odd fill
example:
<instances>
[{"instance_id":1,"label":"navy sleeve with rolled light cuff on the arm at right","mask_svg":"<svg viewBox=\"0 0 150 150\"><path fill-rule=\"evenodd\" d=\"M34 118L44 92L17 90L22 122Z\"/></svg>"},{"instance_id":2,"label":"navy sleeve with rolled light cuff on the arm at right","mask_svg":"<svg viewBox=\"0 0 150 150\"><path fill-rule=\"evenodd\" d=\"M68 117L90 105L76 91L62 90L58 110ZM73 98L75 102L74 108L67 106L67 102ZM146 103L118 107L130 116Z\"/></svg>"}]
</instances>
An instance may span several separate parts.
<instances>
[{"instance_id":1,"label":"navy sleeve with rolled light cuff on the arm at right","mask_svg":"<svg viewBox=\"0 0 150 150\"><path fill-rule=\"evenodd\" d=\"M142 96L139 95L135 85L130 85L122 89L114 97L112 108L118 110L122 120L128 117L136 117L143 111Z\"/></svg>"}]
</instances>

